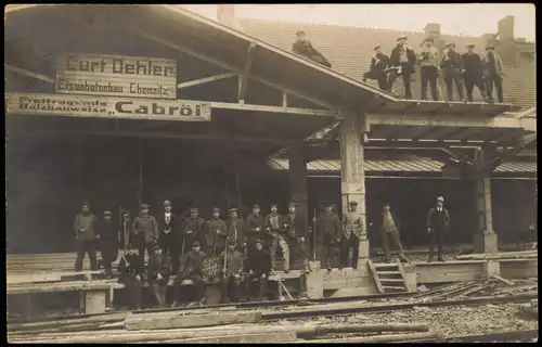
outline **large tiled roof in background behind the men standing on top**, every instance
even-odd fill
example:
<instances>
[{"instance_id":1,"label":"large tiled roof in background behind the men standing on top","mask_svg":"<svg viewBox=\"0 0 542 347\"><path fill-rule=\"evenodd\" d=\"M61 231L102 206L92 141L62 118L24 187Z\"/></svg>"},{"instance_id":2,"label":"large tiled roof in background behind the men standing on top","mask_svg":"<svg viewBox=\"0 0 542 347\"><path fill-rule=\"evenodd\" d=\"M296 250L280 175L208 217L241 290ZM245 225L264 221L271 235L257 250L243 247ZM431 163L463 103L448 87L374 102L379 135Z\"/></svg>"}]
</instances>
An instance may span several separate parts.
<instances>
[{"instance_id":1,"label":"large tiled roof in background behind the men standing on top","mask_svg":"<svg viewBox=\"0 0 542 347\"><path fill-rule=\"evenodd\" d=\"M296 30L305 30L314 47L332 63L333 69L358 80L362 80L363 73L369 70L374 46L382 44L384 51L389 55L396 44L397 37L404 34L396 30L247 18L240 20L240 22L248 35L287 51L292 49ZM418 43L425 37L424 33L408 33L406 35L414 50L418 48ZM466 44L474 43L477 52L481 53L486 44L485 39L480 37L441 35L441 39L454 42L460 52L465 50ZM519 57L517 66L505 66L504 73L504 102L526 107L535 105L534 61ZM420 99L420 74L415 74L414 78L416 80L412 86L413 99ZM367 82L376 86L376 81L367 80ZM446 92L442 81L440 82L441 90ZM397 82L393 92L404 95L402 89L402 83ZM477 101L482 100L476 88L474 98Z\"/></svg>"}]
</instances>

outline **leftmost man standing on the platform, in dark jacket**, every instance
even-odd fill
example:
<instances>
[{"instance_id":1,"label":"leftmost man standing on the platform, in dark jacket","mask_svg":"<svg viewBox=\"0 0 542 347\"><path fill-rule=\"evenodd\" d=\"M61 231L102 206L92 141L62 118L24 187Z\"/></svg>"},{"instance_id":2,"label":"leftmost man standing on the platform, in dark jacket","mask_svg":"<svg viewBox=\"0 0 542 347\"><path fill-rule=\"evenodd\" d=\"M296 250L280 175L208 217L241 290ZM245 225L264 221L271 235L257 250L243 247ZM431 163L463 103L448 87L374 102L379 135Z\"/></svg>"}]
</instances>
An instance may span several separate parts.
<instances>
[{"instance_id":1,"label":"leftmost man standing on the platform, in dark jacket","mask_svg":"<svg viewBox=\"0 0 542 347\"><path fill-rule=\"evenodd\" d=\"M77 240L77 259L75 260L75 271L82 271L82 259L85 254L89 254L90 269L98 270L96 264L96 235L98 218L90 213L89 202L82 203L82 213L75 216L74 233Z\"/></svg>"}]
</instances>

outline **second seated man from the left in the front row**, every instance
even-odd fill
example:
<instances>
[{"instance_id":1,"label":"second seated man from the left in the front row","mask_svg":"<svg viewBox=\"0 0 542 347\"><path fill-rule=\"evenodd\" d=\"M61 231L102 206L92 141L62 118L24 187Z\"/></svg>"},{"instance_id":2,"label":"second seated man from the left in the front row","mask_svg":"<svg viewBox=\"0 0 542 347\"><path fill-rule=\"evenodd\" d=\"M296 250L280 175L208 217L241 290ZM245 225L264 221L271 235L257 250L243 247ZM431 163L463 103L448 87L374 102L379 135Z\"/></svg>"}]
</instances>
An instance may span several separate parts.
<instances>
[{"instance_id":1,"label":"second seated man from the left in the front row","mask_svg":"<svg viewBox=\"0 0 542 347\"><path fill-rule=\"evenodd\" d=\"M156 303L160 308L166 307L166 292L171 274L171 262L167 254L164 254L159 244L154 246L147 267L147 280L153 291Z\"/></svg>"}]
</instances>

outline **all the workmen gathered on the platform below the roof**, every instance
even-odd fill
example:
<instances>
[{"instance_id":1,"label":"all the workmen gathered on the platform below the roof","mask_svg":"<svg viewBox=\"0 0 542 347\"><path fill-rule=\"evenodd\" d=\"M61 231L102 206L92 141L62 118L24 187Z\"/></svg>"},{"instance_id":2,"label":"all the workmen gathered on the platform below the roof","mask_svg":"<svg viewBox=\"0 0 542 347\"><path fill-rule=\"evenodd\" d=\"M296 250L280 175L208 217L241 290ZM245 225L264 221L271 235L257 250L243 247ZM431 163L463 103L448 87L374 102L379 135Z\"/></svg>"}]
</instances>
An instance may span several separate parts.
<instances>
[{"instance_id":1,"label":"all the workmen gathered on the platform below the roof","mask_svg":"<svg viewBox=\"0 0 542 347\"><path fill-rule=\"evenodd\" d=\"M176 274L173 288L177 305L180 285L191 280L196 287L196 300L205 301L204 277L208 267L217 267L219 272L222 301L246 299L249 296L253 280L259 282L258 299L261 300L269 275L274 273L276 253L282 252L283 270L289 271L295 259L301 260L308 271L308 236L315 237L318 255L323 265L331 270L331 257L340 248L339 268L357 268L360 235L364 228L361 215L357 214L357 202L349 203L349 209L343 220L333 205L325 207L325 213L314 218L315 232L302 226L301 217L296 213L296 205L288 204L286 215L278 213L278 205L271 205L267 216L260 214L259 205L253 206L245 220L240 218L236 208L230 209L230 218L220 218L220 209L212 209L211 219L205 221L197 208L190 209L190 217L180 219L172 211L169 201L164 202L164 213L159 217L150 215L150 206L142 204L140 215L130 226L128 214L122 215L121 229L130 234L130 249L118 265L119 281L125 283L130 293L133 308L141 307L141 287L143 281L151 285L156 301L166 305L166 291L171 274ZM82 204L82 213L75 219L74 232L78 242L75 270L82 270L85 254L89 254L91 270L103 266L108 278L112 277L112 264L118 257L119 233L112 220L113 214L104 211L103 220L90 213L90 204ZM389 204L384 204L378 228L383 236L386 261L390 261L390 242L395 243L402 261L409 261L401 245L399 221L390 211ZM443 198L438 197L436 207L429 210L427 232L430 235L429 261L433 261L434 244L438 246L438 260L442 258L443 236L450 228L450 215L443 208ZM96 262L96 248L102 259ZM144 267L145 250L149 255ZM291 257L293 250L293 257ZM209 265L208 259L215 261ZM206 268L207 261L207 268ZM242 283L245 283L242 290Z\"/></svg>"}]
</instances>

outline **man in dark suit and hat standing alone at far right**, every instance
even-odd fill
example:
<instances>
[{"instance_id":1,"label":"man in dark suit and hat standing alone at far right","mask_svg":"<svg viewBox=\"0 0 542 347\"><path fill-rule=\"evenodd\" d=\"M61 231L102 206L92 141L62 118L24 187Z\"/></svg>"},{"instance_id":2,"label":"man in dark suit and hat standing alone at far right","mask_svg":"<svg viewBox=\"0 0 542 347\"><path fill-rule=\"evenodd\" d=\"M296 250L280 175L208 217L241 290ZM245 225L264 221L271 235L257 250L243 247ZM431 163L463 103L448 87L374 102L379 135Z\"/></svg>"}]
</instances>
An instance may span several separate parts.
<instances>
[{"instance_id":1,"label":"man in dark suit and hat standing alone at far right","mask_svg":"<svg viewBox=\"0 0 542 347\"><path fill-rule=\"evenodd\" d=\"M437 255L439 261L444 261L442 257L442 245L444 236L450 231L450 214L444 208L444 198L437 197L437 207L431 207L427 214L427 233L429 234L429 262L433 261L435 242L437 242Z\"/></svg>"}]
</instances>

